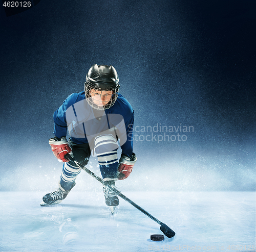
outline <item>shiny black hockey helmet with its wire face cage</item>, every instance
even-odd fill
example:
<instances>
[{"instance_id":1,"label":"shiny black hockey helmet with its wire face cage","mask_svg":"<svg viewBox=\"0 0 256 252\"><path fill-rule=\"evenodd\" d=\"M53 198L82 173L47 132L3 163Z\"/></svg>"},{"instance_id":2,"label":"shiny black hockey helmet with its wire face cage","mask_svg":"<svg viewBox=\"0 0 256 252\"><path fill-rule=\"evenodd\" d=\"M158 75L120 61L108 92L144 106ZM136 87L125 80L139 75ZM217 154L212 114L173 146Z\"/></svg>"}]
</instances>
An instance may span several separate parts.
<instances>
[{"instance_id":1,"label":"shiny black hockey helmet with its wire face cage","mask_svg":"<svg viewBox=\"0 0 256 252\"><path fill-rule=\"evenodd\" d=\"M88 103L97 110L109 109L114 105L118 96L120 85L116 69L113 66L94 64L86 75L84 91ZM94 99L97 91L97 100ZM110 96L111 95L111 96ZM108 96L107 104L99 105L99 100L104 100L101 96ZM95 103L97 101L97 103Z\"/></svg>"}]
</instances>

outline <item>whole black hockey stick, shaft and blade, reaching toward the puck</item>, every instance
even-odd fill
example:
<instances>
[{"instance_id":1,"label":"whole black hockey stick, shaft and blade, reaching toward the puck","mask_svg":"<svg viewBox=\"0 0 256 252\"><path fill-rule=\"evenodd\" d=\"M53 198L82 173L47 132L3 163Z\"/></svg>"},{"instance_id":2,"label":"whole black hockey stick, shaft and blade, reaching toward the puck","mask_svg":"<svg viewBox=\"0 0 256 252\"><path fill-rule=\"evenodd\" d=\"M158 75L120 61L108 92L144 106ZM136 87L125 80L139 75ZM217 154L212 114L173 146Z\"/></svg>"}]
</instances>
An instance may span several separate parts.
<instances>
[{"instance_id":1,"label":"whole black hockey stick, shaft and blade, reaching toward the puck","mask_svg":"<svg viewBox=\"0 0 256 252\"><path fill-rule=\"evenodd\" d=\"M163 222L161 222L160 220L158 220L157 218L155 218L154 216L152 216L150 213L148 213L147 211L145 211L143 208L141 208L139 205L137 205L136 203L134 203L130 198L127 198L125 195L123 195L120 191L118 191L115 187L109 185L108 183L106 183L104 180L102 180L100 177L98 177L95 173L93 173L92 171L90 171L89 169L87 169L85 166L81 165L80 163L78 163L74 158L72 158L69 154L65 155L66 159L69 159L71 162L75 163L77 166L79 166L80 168L82 168L83 170L85 170L88 174L90 174L94 179L96 179L97 181L99 181L101 184L108 186L111 190L113 190L119 197L123 198L124 200L126 200L127 202L129 202L130 204L132 204L134 207L136 207L138 210L140 210L143 214L145 214L147 217L150 217L151 219L153 219L154 221L156 221L160 226L160 230L168 237L168 238L172 238L175 236L175 232L170 229L166 224L164 224Z\"/></svg>"}]
</instances>

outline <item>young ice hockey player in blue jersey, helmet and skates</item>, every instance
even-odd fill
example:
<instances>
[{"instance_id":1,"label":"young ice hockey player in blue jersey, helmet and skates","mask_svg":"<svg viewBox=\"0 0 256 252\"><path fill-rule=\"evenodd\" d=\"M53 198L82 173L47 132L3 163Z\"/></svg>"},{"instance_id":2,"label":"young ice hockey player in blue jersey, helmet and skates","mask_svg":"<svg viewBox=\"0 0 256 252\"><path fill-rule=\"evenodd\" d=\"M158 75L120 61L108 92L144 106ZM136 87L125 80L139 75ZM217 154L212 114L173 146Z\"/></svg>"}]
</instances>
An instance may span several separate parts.
<instances>
[{"instance_id":1,"label":"young ice hockey player in blue jersey, helmet and skates","mask_svg":"<svg viewBox=\"0 0 256 252\"><path fill-rule=\"evenodd\" d=\"M133 153L134 110L119 93L119 87L113 66L94 64L86 75L84 91L71 94L54 112L55 137L49 139L49 144L63 166L58 189L46 194L41 206L60 203L75 186L81 168L65 158L67 153L84 166L91 154L97 157L102 179L114 187L117 180L126 179L132 172L137 160ZM113 213L119 205L118 197L104 185L103 192Z\"/></svg>"}]
</instances>

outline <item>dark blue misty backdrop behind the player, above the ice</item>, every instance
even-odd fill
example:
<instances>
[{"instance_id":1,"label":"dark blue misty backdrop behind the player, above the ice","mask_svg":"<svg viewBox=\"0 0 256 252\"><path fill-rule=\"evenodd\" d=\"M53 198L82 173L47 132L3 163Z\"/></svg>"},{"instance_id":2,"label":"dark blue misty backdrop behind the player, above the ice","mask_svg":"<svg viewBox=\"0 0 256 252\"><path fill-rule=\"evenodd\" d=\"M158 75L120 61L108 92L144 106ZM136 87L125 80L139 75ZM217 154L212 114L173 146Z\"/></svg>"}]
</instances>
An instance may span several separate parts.
<instances>
[{"instance_id":1,"label":"dark blue misty backdrop behind the player, above the ice","mask_svg":"<svg viewBox=\"0 0 256 252\"><path fill-rule=\"evenodd\" d=\"M97 63L116 68L135 126L194 127L184 142L135 141L137 170L255 190L255 3L41 0L9 17L1 7L1 189L19 167L56 162L53 112ZM201 171L223 181L207 187Z\"/></svg>"}]
</instances>

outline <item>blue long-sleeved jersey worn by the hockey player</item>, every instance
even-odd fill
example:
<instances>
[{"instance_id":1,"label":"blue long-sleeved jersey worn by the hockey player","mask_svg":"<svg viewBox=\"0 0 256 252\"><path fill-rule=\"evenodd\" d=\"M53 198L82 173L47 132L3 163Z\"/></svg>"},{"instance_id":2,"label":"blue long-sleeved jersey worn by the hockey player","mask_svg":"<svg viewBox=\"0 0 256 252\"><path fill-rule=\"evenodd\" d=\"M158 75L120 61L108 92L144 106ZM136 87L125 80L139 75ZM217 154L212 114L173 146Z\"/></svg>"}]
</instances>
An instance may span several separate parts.
<instances>
[{"instance_id":1,"label":"blue long-sleeved jersey worn by the hockey player","mask_svg":"<svg viewBox=\"0 0 256 252\"><path fill-rule=\"evenodd\" d=\"M120 140L122 154L131 157L133 154L134 110L130 103L119 93L115 104L104 110L97 120L93 108L87 103L83 92L71 94L53 115L54 135L66 137L67 131L76 144L90 142L90 138L99 133L108 133L115 128Z\"/></svg>"}]
</instances>

